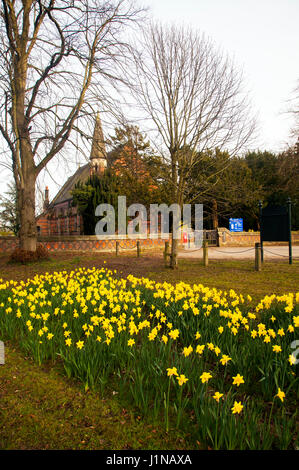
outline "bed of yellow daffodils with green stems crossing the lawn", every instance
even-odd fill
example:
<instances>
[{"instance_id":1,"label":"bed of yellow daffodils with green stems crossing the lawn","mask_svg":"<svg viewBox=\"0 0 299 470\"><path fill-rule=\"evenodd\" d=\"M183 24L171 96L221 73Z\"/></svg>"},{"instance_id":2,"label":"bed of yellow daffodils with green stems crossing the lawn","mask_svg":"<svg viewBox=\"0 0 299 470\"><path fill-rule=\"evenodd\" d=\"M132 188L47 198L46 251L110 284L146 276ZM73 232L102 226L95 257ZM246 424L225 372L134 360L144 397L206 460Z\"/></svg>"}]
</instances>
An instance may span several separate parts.
<instances>
[{"instance_id":1,"label":"bed of yellow daffodils with green stems crossing the lawn","mask_svg":"<svg viewBox=\"0 0 299 470\"><path fill-rule=\"evenodd\" d=\"M299 293L250 296L80 268L0 280L0 339L213 449L298 446ZM298 342L296 342L296 340Z\"/></svg>"}]
</instances>

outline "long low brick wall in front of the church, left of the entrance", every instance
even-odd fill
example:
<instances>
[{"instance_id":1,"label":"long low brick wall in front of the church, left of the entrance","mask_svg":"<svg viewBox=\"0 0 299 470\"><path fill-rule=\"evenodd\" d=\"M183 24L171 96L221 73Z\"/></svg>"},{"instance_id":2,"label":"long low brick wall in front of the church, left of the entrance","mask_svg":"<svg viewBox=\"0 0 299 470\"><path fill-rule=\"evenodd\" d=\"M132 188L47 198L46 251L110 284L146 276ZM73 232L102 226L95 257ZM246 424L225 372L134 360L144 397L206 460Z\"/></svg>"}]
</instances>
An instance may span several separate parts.
<instances>
[{"instance_id":1,"label":"long low brick wall in front of the church, left of the entrance","mask_svg":"<svg viewBox=\"0 0 299 470\"><path fill-rule=\"evenodd\" d=\"M119 249L133 250L137 247L144 249L154 249L164 247L165 239L109 239L99 240L96 236L68 236L68 237L38 237L38 243L45 246L49 251L115 251L116 242L119 242ZM16 237L0 237L0 253L9 253L19 245Z\"/></svg>"}]
</instances>

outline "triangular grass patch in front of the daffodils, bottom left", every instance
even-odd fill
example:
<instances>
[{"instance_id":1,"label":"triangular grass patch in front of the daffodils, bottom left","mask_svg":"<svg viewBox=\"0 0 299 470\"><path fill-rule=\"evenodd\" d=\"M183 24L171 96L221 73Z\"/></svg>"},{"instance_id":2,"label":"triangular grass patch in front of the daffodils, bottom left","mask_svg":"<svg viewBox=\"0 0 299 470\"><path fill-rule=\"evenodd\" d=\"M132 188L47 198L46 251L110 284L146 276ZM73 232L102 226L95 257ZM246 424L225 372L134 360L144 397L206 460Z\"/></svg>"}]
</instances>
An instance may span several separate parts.
<instances>
[{"instance_id":1,"label":"triangular grass patch in front of the daffodils, bottom left","mask_svg":"<svg viewBox=\"0 0 299 470\"><path fill-rule=\"evenodd\" d=\"M188 449L115 397L85 392L59 366L38 366L13 345L0 366L0 450Z\"/></svg>"}]
</instances>

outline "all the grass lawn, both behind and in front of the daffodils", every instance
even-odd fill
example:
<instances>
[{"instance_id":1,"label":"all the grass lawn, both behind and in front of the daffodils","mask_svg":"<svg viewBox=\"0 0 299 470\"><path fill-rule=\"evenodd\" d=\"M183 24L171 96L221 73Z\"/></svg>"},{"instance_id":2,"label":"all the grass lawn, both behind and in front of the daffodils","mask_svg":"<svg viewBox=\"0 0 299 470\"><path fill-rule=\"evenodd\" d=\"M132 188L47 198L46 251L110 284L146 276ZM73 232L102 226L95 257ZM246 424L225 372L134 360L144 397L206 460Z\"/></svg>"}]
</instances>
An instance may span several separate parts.
<instances>
[{"instance_id":1,"label":"all the grass lawn, both behind and in front of the daffodils","mask_svg":"<svg viewBox=\"0 0 299 470\"><path fill-rule=\"evenodd\" d=\"M265 295L298 291L299 262L267 261L261 272L254 261L179 260L179 269L164 267L161 253L135 255L55 253L49 261L26 266L8 264L0 255L0 278L25 280L35 274L105 266L116 275L149 277L160 282L203 284L222 291ZM1 339L1 332L0 332ZM0 365L0 449L198 449L186 429L166 433L163 426L141 418L118 394L101 397L67 379L62 366L36 365L6 343Z\"/></svg>"}]
</instances>

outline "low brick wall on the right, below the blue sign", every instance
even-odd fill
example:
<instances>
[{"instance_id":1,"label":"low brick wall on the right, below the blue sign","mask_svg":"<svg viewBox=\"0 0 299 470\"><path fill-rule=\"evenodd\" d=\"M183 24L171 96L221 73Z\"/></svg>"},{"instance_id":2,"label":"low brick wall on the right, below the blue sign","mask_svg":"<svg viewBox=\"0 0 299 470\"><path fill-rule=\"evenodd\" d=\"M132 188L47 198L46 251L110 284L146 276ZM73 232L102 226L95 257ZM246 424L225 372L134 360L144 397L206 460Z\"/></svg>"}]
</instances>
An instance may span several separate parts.
<instances>
[{"instance_id":1,"label":"low brick wall on the right, below the blue sign","mask_svg":"<svg viewBox=\"0 0 299 470\"><path fill-rule=\"evenodd\" d=\"M218 229L219 246L254 246L260 241L259 232L230 232L226 228ZM272 244L273 242L269 242ZM284 244L284 242L277 242ZM287 243L287 242L285 242ZM292 243L299 244L299 232L292 232ZM267 242L265 242L267 245Z\"/></svg>"}]
</instances>

